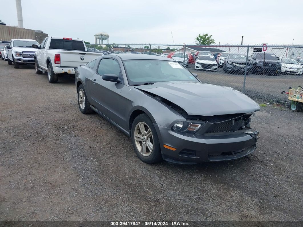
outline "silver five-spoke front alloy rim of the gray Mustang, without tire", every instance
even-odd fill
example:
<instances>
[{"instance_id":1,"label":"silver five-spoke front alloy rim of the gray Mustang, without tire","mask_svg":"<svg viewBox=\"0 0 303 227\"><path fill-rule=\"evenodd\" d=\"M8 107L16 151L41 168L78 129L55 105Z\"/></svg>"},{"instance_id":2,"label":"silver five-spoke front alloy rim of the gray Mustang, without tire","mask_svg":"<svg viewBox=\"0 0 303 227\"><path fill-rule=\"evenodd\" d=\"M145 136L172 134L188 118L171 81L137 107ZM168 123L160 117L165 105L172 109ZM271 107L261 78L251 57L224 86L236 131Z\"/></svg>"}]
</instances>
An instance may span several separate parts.
<instances>
[{"instance_id":1,"label":"silver five-spoke front alloy rim of the gray Mustang, without tire","mask_svg":"<svg viewBox=\"0 0 303 227\"><path fill-rule=\"evenodd\" d=\"M135 144L143 156L149 156L153 150L153 135L151 129L145 122L139 122L134 130Z\"/></svg>"}]
</instances>

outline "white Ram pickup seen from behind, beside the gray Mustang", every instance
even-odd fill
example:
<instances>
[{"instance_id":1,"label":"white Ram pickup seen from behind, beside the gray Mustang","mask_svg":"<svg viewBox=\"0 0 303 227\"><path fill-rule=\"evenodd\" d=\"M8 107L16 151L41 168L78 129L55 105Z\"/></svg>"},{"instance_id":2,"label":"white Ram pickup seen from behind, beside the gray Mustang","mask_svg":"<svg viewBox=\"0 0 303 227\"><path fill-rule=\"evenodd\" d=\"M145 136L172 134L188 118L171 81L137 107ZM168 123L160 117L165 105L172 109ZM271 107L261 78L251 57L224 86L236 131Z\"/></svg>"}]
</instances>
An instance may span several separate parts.
<instances>
[{"instance_id":1,"label":"white Ram pickup seen from behind, beside the gray Mustang","mask_svg":"<svg viewBox=\"0 0 303 227\"><path fill-rule=\"evenodd\" d=\"M35 53L35 71L47 72L48 82L57 83L59 74L75 74L79 65L103 55L100 52L88 52L82 39L65 37L46 37Z\"/></svg>"}]
</instances>

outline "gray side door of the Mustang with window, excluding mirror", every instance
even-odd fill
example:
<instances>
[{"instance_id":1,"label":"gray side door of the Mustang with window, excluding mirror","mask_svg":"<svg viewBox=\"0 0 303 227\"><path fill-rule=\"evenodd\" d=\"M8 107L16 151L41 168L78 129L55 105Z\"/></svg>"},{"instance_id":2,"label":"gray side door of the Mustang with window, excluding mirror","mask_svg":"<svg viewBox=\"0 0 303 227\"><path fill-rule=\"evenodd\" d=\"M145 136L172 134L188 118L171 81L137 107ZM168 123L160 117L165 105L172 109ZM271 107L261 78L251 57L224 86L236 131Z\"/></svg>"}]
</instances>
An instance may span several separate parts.
<instances>
[{"instance_id":1,"label":"gray side door of the Mustang with window, excluding mirror","mask_svg":"<svg viewBox=\"0 0 303 227\"><path fill-rule=\"evenodd\" d=\"M121 83L105 81L104 74L115 74L121 79ZM123 88L123 79L120 64L113 58L101 58L97 67L97 72L89 82L89 91L92 105L106 117L118 124L119 100Z\"/></svg>"}]
</instances>

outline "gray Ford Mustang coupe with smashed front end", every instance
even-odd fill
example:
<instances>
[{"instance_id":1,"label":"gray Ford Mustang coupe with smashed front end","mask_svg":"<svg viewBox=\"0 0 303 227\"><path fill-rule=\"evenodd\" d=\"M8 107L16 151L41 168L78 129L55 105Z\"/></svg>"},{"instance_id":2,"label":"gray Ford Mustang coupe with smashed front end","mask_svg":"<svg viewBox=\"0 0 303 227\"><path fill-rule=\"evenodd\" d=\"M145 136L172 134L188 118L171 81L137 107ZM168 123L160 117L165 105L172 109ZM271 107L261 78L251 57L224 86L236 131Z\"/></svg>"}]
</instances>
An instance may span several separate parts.
<instances>
[{"instance_id":1,"label":"gray Ford Mustang coupe with smashed front end","mask_svg":"<svg viewBox=\"0 0 303 227\"><path fill-rule=\"evenodd\" d=\"M154 55L104 55L75 72L78 104L132 139L139 159L195 164L254 152L259 105L243 93L205 84L181 64Z\"/></svg>"}]
</instances>

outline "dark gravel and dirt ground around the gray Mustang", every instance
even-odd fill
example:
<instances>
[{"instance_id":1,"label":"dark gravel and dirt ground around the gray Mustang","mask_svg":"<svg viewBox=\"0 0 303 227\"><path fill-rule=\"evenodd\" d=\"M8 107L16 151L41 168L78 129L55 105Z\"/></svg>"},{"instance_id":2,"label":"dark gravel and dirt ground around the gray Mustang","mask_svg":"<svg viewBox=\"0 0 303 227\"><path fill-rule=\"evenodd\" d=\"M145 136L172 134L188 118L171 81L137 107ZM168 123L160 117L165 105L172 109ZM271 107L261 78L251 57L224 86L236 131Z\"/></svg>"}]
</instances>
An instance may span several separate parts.
<instances>
[{"instance_id":1,"label":"dark gravel and dirt ground around the gray Mustang","mask_svg":"<svg viewBox=\"0 0 303 227\"><path fill-rule=\"evenodd\" d=\"M303 220L303 113L261 107L254 155L147 165L74 79L0 61L0 220Z\"/></svg>"}]
</instances>

